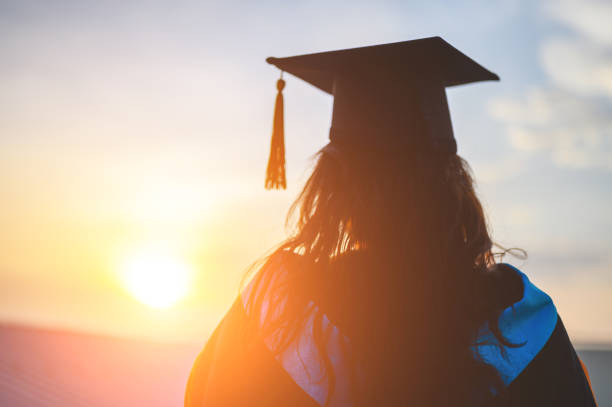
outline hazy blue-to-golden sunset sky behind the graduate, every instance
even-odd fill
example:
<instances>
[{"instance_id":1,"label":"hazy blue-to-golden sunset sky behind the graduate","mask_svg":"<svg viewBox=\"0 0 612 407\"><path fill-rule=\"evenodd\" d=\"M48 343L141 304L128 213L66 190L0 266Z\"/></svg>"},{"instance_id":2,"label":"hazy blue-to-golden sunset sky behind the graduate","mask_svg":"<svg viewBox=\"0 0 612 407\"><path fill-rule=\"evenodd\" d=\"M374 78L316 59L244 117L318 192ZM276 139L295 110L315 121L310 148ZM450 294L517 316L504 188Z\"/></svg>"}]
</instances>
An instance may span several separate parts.
<instances>
[{"instance_id":1,"label":"hazy blue-to-golden sunset sky behind the graduate","mask_svg":"<svg viewBox=\"0 0 612 407\"><path fill-rule=\"evenodd\" d=\"M528 253L504 260L576 342L612 343L609 21L598 0L0 0L0 320L205 341L327 143L331 97L285 76L289 186L264 190L265 58L439 35L501 77L447 94L494 240ZM126 284L152 252L189 269L166 308Z\"/></svg>"}]
</instances>

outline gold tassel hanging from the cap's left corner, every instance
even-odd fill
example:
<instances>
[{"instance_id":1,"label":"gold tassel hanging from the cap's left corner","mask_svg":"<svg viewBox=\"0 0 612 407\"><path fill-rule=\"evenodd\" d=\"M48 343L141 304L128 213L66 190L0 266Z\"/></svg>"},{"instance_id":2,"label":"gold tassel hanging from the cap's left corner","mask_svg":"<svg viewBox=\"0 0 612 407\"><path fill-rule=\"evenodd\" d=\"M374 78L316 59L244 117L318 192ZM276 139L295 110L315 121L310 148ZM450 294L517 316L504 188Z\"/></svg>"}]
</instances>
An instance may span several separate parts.
<instances>
[{"instance_id":1,"label":"gold tassel hanging from the cap's left corner","mask_svg":"<svg viewBox=\"0 0 612 407\"><path fill-rule=\"evenodd\" d=\"M276 82L278 93L274 104L274 122L272 125L272 141L270 142L270 159L266 171L266 189L287 188L287 180L285 179L285 123L283 117L284 87L285 81L281 72L281 77Z\"/></svg>"}]
</instances>

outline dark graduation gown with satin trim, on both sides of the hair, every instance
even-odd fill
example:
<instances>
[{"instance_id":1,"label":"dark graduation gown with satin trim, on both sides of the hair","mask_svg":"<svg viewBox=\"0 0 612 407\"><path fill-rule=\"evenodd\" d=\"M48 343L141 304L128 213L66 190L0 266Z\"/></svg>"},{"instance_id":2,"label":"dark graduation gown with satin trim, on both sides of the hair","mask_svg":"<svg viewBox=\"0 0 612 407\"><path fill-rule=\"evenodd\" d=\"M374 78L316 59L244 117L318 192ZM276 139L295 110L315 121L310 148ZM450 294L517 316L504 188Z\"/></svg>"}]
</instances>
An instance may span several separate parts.
<instances>
[{"instance_id":1,"label":"dark graduation gown with satin trim, on both sides of the hair","mask_svg":"<svg viewBox=\"0 0 612 407\"><path fill-rule=\"evenodd\" d=\"M561 318L548 295L519 270L522 298L499 318L502 334L517 348L500 349L485 324L472 349L494 366L505 385L495 406L596 406L586 368L576 355ZM327 380L313 341L314 324L329 329L327 353L336 377L329 406L350 406L347 361L341 349L349 339L326 317L307 319L295 340L280 354L265 338L245 340L249 316L245 300L237 298L197 357L185 393L185 407L202 406L323 406ZM316 304L310 304L314 311Z\"/></svg>"}]
</instances>

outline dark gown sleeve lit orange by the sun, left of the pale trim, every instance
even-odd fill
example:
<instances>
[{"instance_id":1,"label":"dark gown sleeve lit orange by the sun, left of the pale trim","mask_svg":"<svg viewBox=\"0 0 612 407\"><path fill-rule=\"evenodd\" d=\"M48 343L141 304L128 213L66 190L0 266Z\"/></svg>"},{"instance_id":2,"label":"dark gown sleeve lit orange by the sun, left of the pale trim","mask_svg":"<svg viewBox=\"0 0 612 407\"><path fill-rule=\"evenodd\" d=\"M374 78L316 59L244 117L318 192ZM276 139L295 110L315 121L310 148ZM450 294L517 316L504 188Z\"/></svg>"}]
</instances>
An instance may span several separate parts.
<instances>
[{"instance_id":1,"label":"dark gown sleeve lit orange by the sun, left of the pale trim","mask_svg":"<svg viewBox=\"0 0 612 407\"><path fill-rule=\"evenodd\" d=\"M257 327L253 329L252 316L246 312L245 298L251 296L261 298L263 303L258 301L258 306L273 308L269 295L257 284L278 275L269 272L273 266L266 263L238 296L196 358L185 391L186 407L318 405L279 363L268 338L262 337Z\"/></svg>"}]
</instances>

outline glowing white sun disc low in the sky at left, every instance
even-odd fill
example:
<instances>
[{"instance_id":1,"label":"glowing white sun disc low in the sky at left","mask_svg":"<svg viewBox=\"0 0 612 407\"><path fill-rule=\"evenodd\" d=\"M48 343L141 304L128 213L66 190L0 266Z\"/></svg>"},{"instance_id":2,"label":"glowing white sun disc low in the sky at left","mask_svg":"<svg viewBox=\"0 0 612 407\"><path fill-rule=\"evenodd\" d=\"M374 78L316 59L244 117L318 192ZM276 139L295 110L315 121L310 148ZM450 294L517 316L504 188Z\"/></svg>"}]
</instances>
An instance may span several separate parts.
<instances>
[{"instance_id":1,"label":"glowing white sun disc low in the sky at left","mask_svg":"<svg viewBox=\"0 0 612 407\"><path fill-rule=\"evenodd\" d=\"M171 253L142 250L124 259L121 274L130 294L154 308L168 308L189 289L192 270Z\"/></svg>"}]
</instances>

